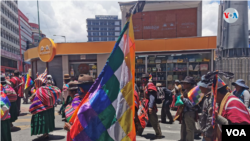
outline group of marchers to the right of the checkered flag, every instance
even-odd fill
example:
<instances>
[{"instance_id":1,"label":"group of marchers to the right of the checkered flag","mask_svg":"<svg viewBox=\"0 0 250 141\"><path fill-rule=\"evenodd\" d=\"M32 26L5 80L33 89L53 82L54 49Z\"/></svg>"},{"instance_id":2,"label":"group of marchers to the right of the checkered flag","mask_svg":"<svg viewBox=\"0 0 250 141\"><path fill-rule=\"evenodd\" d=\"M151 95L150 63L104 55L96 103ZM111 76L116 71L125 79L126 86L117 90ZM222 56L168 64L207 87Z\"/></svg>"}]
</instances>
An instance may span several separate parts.
<instances>
[{"instance_id":1,"label":"group of marchers to the right of the checkered flag","mask_svg":"<svg viewBox=\"0 0 250 141\"><path fill-rule=\"evenodd\" d=\"M242 79L233 82L235 87L231 91L227 84L218 81L216 108L215 112L215 126L212 125L212 83L208 83L207 78L203 76L200 82L196 83L193 77L187 76L183 81L176 80L175 86L166 88L162 87L160 83L154 85L150 80L148 74L142 76L143 95L141 102L138 100L135 103L140 103L140 108L136 108L135 114L136 132L137 135L142 135L143 128L141 126L149 121L148 126L152 126L155 130L155 138L162 138L162 132L159 125L161 123L172 124L174 121L179 121L181 124L180 141L193 141L195 138L202 137L203 141L213 141L217 139L221 141L222 125L249 125L249 87ZM188 98L189 92L198 87L204 97L197 104L193 104ZM135 88L135 100L137 94L140 95L138 88ZM160 95L165 95L162 99L161 120L158 121L156 112ZM183 105L175 106L177 97L180 97ZM138 106L137 106L138 107ZM145 109L145 110L141 110ZM170 110L177 110L173 119ZM148 114L144 115L143 112ZM166 122L166 116L169 122Z\"/></svg>"}]
</instances>

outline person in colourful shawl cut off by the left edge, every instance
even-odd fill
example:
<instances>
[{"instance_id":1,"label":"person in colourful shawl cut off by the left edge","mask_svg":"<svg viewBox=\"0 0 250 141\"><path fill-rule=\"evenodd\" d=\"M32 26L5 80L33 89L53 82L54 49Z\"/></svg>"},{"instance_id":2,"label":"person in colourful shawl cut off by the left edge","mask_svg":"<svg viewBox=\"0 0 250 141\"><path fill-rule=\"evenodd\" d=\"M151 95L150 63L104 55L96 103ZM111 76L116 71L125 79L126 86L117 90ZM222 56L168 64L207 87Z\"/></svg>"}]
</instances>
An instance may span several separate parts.
<instances>
[{"instance_id":1,"label":"person in colourful shawl cut off by the left edge","mask_svg":"<svg viewBox=\"0 0 250 141\"><path fill-rule=\"evenodd\" d=\"M0 84L0 141L11 141L10 131L10 101Z\"/></svg>"}]
</instances>

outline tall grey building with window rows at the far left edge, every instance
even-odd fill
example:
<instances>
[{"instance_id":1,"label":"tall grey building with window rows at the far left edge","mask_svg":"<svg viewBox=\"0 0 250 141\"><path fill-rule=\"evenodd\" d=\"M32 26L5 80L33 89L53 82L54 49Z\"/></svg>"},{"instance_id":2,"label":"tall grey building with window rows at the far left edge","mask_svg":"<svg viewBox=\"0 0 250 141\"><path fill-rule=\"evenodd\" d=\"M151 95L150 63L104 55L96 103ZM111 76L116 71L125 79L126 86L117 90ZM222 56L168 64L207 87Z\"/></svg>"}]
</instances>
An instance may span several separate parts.
<instances>
[{"instance_id":1,"label":"tall grey building with window rows at the far left edge","mask_svg":"<svg viewBox=\"0 0 250 141\"><path fill-rule=\"evenodd\" d=\"M17 0L0 1L0 72L21 71Z\"/></svg>"}]
</instances>

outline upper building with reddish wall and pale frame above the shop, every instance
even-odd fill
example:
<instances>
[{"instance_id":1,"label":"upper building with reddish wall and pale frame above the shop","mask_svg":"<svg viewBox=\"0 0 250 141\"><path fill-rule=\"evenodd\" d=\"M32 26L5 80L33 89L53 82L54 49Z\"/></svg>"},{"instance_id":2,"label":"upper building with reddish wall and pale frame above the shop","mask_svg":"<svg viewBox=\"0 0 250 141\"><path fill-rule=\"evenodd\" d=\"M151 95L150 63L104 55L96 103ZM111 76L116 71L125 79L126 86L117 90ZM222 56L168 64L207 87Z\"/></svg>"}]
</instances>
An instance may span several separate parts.
<instances>
[{"instance_id":1,"label":"upper building with reddish wall and pale frame above the shop","mask_svg":"<svg viewBox=\"0 0 250 141\"><path fill-rule=\"evenodd\" d=\"M122 26L136 1L119 2ZM143 12L133 15L135 39L202 36L202 0L147 0Z\"/></svg>"}]
</instances>

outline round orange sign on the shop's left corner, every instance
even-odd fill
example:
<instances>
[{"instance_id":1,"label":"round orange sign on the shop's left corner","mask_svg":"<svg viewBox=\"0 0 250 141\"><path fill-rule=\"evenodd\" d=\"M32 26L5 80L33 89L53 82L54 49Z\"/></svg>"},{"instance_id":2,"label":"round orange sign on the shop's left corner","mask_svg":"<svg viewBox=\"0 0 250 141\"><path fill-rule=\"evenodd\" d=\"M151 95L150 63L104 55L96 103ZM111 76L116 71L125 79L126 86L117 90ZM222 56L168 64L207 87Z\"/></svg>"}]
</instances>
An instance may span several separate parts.
<instances>
[{"instance_id":1,"label":"round orange sign on the shop's left corner","mask_svg":"<svg viewBox=\"0 0 250 141\"><path fill-rule=\"evenodd\" d=\"M56 55L56 45L50 38L43 38L38 46L38 56L43 62L50 62Z\"/></svg>"}]
</instances>

